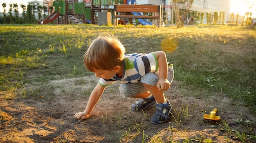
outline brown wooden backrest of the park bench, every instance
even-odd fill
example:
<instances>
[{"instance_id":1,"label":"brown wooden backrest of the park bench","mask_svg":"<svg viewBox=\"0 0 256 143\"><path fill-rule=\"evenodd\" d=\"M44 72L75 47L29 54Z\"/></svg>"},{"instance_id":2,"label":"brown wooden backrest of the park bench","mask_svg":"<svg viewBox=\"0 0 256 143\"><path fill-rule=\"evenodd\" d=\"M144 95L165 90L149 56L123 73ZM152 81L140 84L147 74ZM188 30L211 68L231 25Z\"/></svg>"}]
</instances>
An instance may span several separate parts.
<instances>
[{"instance_id":1,"label":"brown wooden backrest of the park bench","mask_svg":"<svg viewBox=\"0 0 256 143\"><path fill-rule=\"evenodd\" d=\"M131 4L118 4L114 5L116 12L153 12L159 13L161 10L159 5L131 5Z\"/></svg>"}]
</instances>

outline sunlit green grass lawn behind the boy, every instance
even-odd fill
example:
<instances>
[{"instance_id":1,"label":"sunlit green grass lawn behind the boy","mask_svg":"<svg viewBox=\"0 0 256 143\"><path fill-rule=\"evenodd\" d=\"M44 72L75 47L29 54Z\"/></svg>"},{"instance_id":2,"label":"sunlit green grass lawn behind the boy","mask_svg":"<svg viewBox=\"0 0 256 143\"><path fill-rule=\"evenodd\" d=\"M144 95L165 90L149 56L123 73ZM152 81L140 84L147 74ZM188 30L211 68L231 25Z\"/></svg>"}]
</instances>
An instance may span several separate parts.
<instances>
[{"instance_id":1,"label":"sunlit green grass lawn behind the boy","mask_svg":"<svg viewBox=\"0 0 256 143\"><path fill-rule=\"evenodd\" d=\"M7 99L17 98L22 97L20 91L26 84L90 75L83 66L83 53L101 33L117 36L126 53L162 50L163 39L175 39L177 49L166 55L185 95L229 96L256 114L256 30L245 26L198 24L161 29L2 24L0 90L8 93Z\"/></svg>"}]
</instances>

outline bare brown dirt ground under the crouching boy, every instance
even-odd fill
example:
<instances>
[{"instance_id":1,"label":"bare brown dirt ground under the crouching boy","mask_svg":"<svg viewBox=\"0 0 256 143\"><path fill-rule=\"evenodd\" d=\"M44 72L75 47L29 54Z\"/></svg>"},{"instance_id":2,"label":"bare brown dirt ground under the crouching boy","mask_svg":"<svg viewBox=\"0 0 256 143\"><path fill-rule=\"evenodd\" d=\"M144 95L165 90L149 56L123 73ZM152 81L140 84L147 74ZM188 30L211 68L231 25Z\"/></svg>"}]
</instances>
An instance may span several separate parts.
<instances>
[{"instance_id":1,"label":"bare brown dirt ground under the crouching boy","mask_svg":"<svg viewBox=\"0 0 256 143\"><path fill-rule=\"evenodd\" d=\"M165 92L174 110L171 119L164 124L150 123L155 105L149 106L144 112L132 111L131 104L137 99L122 98L118 83L106 88L89 119L76 120L74 114L85 109L90 91L97 82L94 76L86 76L55 80L45 85L27 85L27 92L40 88L37 94L39 98L34 99L4 100L4 92L1 91L0 142L240 143L236 133L231 130L245 132L243 125L247 124L246 127L251 128L249 132L256 133L255 117L246 107L233 104L223 95L213 95L207 99L182 95L175 80ZM218 109L216 115L222 120L205 120L203 115L210 114L214 108ZM223 121L228 126L224 126ZM231 130L227 130L229 128Z\"/></svg>"}]
</instances>

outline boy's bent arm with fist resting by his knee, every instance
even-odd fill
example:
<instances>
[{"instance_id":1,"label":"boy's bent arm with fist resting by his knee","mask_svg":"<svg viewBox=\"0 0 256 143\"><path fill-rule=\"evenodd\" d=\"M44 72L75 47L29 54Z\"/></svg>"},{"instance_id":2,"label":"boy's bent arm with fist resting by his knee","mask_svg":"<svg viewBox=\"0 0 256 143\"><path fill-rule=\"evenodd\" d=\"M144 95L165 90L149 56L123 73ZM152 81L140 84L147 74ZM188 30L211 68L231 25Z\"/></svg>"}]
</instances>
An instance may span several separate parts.
<instances>
[{"instance_id":1,"label":"boy's bent arm with fist resting by his knee","mask_svg":"<svg viewBox=\"0 0 256 143\"><path fill-rule=\"evenodd\" d=\"M159 80L157 82L157 88L159 90L166 91L170 88L170 82L167 80L167 59L166 55L162 51L154 52L157 56L158 69L159 69Z\"/></svg>"}]
</instances>

